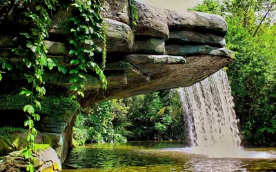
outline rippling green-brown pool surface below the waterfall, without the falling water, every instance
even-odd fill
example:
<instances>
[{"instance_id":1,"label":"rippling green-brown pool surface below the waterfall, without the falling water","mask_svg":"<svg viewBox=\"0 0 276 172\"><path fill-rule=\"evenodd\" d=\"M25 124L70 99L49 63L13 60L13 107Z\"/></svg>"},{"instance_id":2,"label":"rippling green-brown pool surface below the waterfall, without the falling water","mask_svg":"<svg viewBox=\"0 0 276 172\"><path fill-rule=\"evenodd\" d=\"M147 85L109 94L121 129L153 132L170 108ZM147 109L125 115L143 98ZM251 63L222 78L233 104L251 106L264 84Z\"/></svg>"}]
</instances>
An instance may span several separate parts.
<instances>
[{"instance_id":1,"label":"rippling green-brown pool surface below the waterfall, without the falling water","mask_svg":"<svg viewBox=\"0 0 276 172\"><path fill-rule=\"evenodd\" d=\"M72 150L63 172L95 171L276 171L276 149L250 149L270 158L208 158L180 142L88 144Z\"/></svg>"}]
</instances>

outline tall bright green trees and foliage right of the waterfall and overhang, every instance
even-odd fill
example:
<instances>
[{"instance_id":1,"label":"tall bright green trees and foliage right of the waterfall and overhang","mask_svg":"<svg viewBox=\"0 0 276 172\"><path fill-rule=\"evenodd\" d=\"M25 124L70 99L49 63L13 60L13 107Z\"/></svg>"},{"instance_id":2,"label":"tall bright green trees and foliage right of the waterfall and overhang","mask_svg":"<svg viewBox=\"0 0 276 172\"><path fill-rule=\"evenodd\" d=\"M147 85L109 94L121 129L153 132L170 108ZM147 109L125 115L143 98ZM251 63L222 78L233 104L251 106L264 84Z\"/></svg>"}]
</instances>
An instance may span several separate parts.
<instances>
[{"instance_id":1,"label":"tall bright green trees and foliage right of the waterfall and overhang","mask_svg":"<svg viewBox=\"0 0 276 172\"><path fill-rule=\"evenodd\" d=\"M276 25L272 17L276 1L206 0L191 10L226 18L226 42L236 52L235 62L228 66L228 76L244 141L252 146L274 146Z\"/></svg>"}]
</instances>

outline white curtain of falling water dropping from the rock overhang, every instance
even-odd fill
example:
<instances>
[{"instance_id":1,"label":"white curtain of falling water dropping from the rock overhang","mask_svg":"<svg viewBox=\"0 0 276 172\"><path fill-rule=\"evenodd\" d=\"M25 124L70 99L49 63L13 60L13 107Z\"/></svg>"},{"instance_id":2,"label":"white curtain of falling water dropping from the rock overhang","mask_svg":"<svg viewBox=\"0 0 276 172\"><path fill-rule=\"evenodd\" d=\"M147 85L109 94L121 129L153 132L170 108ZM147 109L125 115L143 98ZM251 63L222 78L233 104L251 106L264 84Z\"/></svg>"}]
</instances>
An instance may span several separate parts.
<instances>
[{"instance_id":1,"label":"white curtain of falling water dropping from the rock overhang","mask_svg":"<svg viewBox=\"0 0 276 172\"><path fill-rule=\"evenodd\" d=\"M178 89L190 146L209 151L242 150L233 97L226 72ZM221 152L219 151L219 152Z\"/></svg>"}]
</instances>

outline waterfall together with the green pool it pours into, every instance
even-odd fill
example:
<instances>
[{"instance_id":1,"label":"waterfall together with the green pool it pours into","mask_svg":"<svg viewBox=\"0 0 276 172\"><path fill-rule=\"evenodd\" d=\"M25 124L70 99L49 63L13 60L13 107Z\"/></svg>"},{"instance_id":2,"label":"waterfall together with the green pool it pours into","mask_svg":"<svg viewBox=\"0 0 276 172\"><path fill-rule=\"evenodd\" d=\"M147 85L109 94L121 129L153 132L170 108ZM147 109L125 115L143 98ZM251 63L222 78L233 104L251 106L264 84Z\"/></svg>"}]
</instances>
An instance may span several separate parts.
<instances>
[{"instance_id":1,"label":"waterfall together with the green pool it pours into","mask_svg":"<svg viewBox=\"0 0 276 172\"><path fill-rule=\"evenodd\" d=\"M190 147L183 142L88 144L72 150L64 171L276 171L276 149L242 148L226 73L181 88L179 95Z\"/></svg>"}]
</instances>

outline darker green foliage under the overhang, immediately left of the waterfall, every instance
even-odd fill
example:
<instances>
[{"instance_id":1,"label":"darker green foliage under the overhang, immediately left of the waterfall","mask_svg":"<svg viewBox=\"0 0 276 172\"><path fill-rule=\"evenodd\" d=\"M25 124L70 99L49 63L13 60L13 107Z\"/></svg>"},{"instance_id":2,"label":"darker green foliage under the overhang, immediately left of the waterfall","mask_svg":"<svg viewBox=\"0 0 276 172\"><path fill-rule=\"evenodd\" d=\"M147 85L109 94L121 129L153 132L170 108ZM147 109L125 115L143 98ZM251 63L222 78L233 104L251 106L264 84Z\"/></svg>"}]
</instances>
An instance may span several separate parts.
<instances>
[{"instance_id":1,"label":"darker green foliage under the overhang, immediately left of the waterfall","mask_svg":"<svg viewBox=\"0 0 276 172\"><path fill-rule=\"evenodd\" d=\"M130 140L181 140L181 104L178 93L162 91L130 100Z\"/></svg>"}]
</instances>

